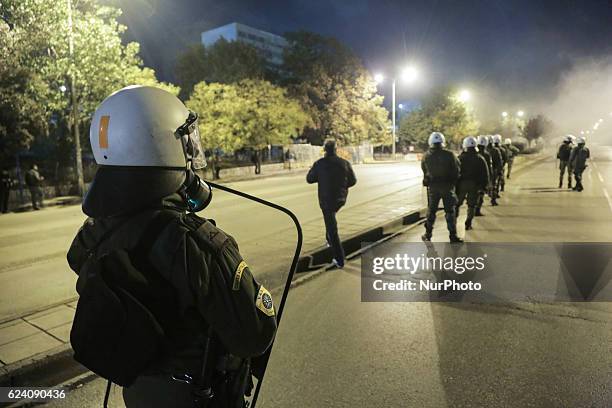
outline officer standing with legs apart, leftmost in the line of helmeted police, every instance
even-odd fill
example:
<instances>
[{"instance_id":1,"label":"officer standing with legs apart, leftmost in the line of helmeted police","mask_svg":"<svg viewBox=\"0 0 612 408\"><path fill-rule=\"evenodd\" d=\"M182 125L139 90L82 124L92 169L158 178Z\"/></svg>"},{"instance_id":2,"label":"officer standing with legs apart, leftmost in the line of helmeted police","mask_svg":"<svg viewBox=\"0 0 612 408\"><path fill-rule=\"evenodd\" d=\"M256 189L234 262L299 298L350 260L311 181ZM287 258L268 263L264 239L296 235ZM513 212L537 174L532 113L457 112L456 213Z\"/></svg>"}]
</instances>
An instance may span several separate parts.
<instances>
[{"instance_id":1,"label":"officer standing with legs apart, leftmost in the line of helmeted police","mask_svg":"<svg viewBox=\"0 0 612 408\"><path fill-rule=\"evenodd\" d=\"M436 221L436 211L440 200L444 203L444 216L448 228L450 242L463 242L457 236L457 195L455 185L459 180L459 163L455 154L444 149L444 135L433 132L429 136L429 151L421 161L423 170L423 185L427 187L427 220L423 241L431 241L433 226Z\"/></svg>"}]
</instances>

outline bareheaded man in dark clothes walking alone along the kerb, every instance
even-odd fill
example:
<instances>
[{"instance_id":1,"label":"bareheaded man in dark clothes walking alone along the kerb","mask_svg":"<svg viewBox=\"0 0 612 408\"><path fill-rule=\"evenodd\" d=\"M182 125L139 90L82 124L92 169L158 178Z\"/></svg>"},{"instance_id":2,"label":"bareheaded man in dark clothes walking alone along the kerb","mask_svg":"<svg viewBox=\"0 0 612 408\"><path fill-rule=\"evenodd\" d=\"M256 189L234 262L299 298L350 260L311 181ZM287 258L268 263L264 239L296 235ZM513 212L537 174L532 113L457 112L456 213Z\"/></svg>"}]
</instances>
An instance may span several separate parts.
<instances>
[{"instance_id":1,"label":"bareheaded man in dark clothes walking alone along the kerb","mask_svg":"<svg viewBox=\"0 0 612 408\"><path fill-rule=\"evenodd\" d=\"M326 239L334 253L333 263L344 267L344 249L338 236L336 213L346 203L348 189L357 183L351 164L336 155L336 142L325 142L325 157L319 159L306 175L309 184L319 183L319 206L325 221Z\"/></svg>"}]
</instances>

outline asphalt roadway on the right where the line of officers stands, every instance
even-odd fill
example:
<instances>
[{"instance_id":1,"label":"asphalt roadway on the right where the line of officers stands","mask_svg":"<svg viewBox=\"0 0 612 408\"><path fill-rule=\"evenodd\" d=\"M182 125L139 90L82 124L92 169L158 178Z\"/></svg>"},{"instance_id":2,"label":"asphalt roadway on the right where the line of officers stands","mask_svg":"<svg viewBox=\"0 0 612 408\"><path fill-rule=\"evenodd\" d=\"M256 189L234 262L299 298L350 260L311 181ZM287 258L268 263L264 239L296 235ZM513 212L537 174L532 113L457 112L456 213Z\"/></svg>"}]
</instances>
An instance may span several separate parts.
<instances>
[{"instance_id":1,"label":"asphalt roadway on the right where the line of officers stands","mask_svg":"<svg viewBox=\"0 0 612 408\"><path fill-rule=\"evenodd\" d=\"M552 160L517 172L466 238L611 241L612 155L595 156L583 193L556 188ZM434 240L447 238L440 222ZM612 406L609 303L365 303L360 285L357 258L292 290L258 407ZM51 406L97 406L103 387Z\"/></svg>"}]
</instances>

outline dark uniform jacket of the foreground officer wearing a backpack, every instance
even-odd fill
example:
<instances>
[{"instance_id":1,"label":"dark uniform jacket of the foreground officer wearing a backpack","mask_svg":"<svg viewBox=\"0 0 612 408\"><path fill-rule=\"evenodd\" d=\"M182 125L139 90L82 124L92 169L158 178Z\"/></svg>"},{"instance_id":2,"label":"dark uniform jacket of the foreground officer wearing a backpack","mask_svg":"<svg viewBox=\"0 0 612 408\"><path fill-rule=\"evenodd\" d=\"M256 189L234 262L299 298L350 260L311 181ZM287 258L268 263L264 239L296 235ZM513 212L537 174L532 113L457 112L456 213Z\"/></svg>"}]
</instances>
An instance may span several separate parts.
<instances>
[{"instance_id":1,"label":"dark uniform jacket of the foreground officer wearing a backpack","mask_svg":"<svg viewBox=\"0 0 612 408\"><path fill-rule=\"evenodd\" d=\"M236 284L235 270L227 270L188 226L193 220L185 214L181 198L171 196L166 204L162 211L170 213L166 218L171 221L162 223L162 228L154 232L153 210L129 218L88 218L68 251L70 268L79 274L88 248L95 247L106 231L122 223L99 251L127 250L143 278L129 274L115 276L110 272L106 278L143 303L164 330L164 350L144 374L198 375L209 325L230 353L241 357L260 355L274 336L273 331L264 328L269 328L268 320L275 318L256 306L260 289L248 265L242 270L239 288L232 287ZM143 240L148 240L148 245L143 246ZM231 237L226 246L229 245L236 245ZM271 323L275 327L275 321Z\"/></svg>"}]
</instances>

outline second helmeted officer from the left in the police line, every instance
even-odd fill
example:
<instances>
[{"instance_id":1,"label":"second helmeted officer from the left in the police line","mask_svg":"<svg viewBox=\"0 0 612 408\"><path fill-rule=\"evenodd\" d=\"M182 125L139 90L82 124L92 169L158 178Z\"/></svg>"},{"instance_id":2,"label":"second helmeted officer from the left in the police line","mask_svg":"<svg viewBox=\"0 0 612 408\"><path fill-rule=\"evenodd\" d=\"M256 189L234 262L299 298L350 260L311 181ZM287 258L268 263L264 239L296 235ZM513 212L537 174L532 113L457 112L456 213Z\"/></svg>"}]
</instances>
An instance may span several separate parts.
<instances>
[{"instance_id":1,"label":"second helmeted officer from the left in the police line","mask_svg":"<svg viewBox=\"0 0 612 408\"><path fill-rule=\"evenodd\" d=\"M468 136L463 139L464 151L459 155L460 177L457 185L457 212L467 199L468 210L465 219L465 230L472 229L472 219L476 212L479 192L489 184L489 169L485 159L476 151L476 138Z\"/></svg>"}]
</instances>

